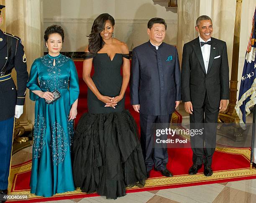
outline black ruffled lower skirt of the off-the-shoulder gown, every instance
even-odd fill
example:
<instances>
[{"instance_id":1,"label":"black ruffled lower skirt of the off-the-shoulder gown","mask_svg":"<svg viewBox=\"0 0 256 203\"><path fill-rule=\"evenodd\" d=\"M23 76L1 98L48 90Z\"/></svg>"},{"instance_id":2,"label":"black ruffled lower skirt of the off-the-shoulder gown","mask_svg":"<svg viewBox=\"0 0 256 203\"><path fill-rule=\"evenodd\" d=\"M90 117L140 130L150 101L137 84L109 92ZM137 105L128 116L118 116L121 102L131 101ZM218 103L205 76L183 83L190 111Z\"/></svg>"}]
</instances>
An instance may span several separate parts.
<instances>
[{"instance_id":1,"label":"black ruffled lower skirt of the off-the-shoulder gown","mask_svg":"<svg viewBox=\"0 0 256 203\"><path fill-rule=\"evenodd\" d=\"M143 187L146 167L137 125L128 110L84 113L74 134L74 183L82 192L116 199L125 187Z\"/></svg>"}]
</instances>

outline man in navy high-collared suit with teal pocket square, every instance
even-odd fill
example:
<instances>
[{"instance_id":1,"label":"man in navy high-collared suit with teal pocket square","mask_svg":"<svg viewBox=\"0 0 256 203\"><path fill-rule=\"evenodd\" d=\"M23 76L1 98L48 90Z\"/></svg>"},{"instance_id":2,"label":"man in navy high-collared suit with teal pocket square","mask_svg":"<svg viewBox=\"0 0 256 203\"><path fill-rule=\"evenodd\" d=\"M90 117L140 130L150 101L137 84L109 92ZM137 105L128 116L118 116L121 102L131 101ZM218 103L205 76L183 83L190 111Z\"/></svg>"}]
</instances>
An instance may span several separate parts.
<instances>
[{"instance_id":1,"label":"man in navy high-collared suit with teal pocket square","mask_svg":"<svg viewBox=\"0 0 256 203\"><path fill-rule=\"evenodd\" d=\"M181 100L181 73L177 49L163 42L166 23L162 18L148 21L149 41L133 49L131 104L140 113L141 148L149 172L155 167L170 177L166 144L154 148L154 123L170 123ZM169 127L169 126L168 126Z\"/></svg>"}]
</instances>

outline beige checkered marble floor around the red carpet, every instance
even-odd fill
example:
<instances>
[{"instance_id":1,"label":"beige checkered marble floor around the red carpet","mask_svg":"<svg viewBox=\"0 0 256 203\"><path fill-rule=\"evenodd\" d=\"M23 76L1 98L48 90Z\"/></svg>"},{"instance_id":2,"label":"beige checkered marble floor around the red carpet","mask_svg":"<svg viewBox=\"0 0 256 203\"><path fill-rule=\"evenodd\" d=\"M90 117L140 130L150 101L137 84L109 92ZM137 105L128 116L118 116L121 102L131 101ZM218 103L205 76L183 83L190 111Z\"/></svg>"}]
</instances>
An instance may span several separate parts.
<instances>
[{"instance_id":1,"label":"beige checkered marble floor around the red carpet","mask_svg":"<svg viewBox=\"0 0 256 203\"><path fill-rule=\"evenodd\" d=\"M183 115L183 122L187 123L188 115L183 110L179 112ZM29 147L13 155L12 165L31 158L32 147ZM92 197L46 203L256 203L256 179L128 193L117 200Z\"/></svg>"}]
</instances>

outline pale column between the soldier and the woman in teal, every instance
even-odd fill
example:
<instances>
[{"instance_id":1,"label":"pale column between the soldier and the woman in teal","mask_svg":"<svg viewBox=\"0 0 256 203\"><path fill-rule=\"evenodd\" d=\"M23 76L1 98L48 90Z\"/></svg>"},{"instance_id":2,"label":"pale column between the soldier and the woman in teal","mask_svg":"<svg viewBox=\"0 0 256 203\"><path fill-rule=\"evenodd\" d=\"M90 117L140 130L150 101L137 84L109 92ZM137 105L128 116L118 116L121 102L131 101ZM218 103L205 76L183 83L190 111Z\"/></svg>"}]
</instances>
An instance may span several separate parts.
<instances>
[{"instance_id":1,"label":"pale column between the soldier and the woman in teal","mask_svg":"<svg viewBox=\"0 0 256 203\"><path fill-rule=\"evenodd\" d=\"M21 38L27 58L28 73L33 61L43 55L43 0L6 1L6 32ZM13 71L13 79L16 73ZM34 102L27 90L23 115L18 119L25 130L32 130Z\"/></svg>"}]
</instances>

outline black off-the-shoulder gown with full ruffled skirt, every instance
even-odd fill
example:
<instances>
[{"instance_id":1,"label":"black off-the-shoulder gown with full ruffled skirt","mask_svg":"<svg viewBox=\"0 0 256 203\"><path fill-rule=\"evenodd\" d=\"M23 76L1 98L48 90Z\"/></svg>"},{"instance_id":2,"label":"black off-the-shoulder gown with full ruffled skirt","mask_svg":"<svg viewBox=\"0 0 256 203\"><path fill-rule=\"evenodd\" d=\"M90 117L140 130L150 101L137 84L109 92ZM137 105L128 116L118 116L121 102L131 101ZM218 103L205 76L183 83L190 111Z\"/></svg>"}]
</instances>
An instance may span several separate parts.
<instances>
[{"instance_id":1,"label":"black off-the-shoulder gown with full ruffled skirt","mask_svg":"<svg viewBox=\"0 0 256 203\"><path fill-rule=\"evenodd\" d=\"M106 53L90 54L95 73L92 77L102 95L115 97L122 86L120 68L123 57L116 53L113 60ZM138 139L137 125L125 110L125 98L115 109L104 107L88 88L88 111L80 118L74 133L74 183L82 192L116 199L124 196L125 187L143 187L146 167Z\"/></svg>"}]
</instances>

